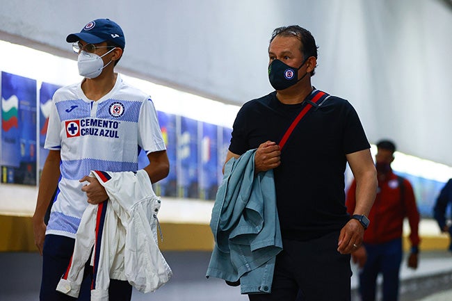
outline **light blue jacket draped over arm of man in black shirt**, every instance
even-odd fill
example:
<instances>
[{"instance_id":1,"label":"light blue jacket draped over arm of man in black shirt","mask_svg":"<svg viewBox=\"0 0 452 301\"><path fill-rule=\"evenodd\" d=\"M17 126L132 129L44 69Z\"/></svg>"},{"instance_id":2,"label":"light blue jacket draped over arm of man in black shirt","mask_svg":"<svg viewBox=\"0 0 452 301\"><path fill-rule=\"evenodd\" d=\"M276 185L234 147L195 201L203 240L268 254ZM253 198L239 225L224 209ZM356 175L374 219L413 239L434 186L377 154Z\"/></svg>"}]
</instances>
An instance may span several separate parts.
<instances>
[{"instance_id":1,"label":"light blue jacket draped over arm of man in black shirt","mask_svg":"<svg viewBox=\"0 0 452 301\"><path fill-rule=\"evenodd\" d=\"M243 294L271 293L282 250L273 170L255 176L255 152L227 161L210 222L216 244L207 277L240 279Z\"/></svg>"}]
</instances>

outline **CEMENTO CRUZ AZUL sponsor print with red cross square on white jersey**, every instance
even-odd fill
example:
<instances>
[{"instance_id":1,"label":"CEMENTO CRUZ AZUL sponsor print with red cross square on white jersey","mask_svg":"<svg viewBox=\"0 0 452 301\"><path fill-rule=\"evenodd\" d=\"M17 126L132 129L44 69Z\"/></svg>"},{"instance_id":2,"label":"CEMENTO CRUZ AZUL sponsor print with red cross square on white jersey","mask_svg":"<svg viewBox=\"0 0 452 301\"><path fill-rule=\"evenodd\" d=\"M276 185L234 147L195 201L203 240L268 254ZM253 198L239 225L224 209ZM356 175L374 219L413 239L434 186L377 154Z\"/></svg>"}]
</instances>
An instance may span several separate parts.
<instances>
[{"instance_id":1,"label":"CEMENTO CRUZ AZUL sponsor print with red cross square on white jersey","mask_svg":"<svg viewBox=\"0 0 452 301\"><path fill-rule=\"evenodd\" d=\"M122 108L124 111L124 108ZM118 139L118 128L121 122L97 118L85 118L81 120L67 120L65 122L66 137L99 136Z\"/></svg>"}]
</instances>

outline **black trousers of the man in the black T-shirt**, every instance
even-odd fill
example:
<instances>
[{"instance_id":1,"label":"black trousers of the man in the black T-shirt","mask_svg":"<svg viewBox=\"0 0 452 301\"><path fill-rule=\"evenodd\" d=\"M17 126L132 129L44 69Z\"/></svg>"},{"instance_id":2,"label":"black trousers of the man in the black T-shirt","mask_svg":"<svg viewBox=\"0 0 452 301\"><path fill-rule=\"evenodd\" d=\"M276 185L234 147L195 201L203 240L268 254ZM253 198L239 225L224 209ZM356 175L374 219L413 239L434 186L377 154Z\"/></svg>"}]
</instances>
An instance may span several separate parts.
<instances>
[{"instance_id":1,"label":"black trousers of the man in the black T-shirt","mask_svg":"<svg viewBox=\"0 0 452 301\"><path fill-rule=\"evenodd\" d=\"M283 241L270 294L250 301L350 301L350 255L337 252L339 232L311 241Z\"/></svg>"}]
</instances>

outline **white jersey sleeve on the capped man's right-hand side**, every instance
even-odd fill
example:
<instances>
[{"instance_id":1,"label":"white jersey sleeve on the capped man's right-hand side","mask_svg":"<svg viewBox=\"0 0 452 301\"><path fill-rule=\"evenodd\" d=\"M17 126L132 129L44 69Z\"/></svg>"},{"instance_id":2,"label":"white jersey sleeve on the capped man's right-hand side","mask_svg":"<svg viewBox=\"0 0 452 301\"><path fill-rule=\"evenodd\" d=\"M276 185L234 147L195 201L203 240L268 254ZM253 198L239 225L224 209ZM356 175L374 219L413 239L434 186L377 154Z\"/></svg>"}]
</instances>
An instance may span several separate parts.
<instances>
[{"instance_id":1,"label":"white jersey sleeve on the capped man's right-hand side","mask_svg":"<svg viewBox=\"0 0 452 301\"><path fill-rule=\"evenodd\" d=\"M138 145L149 154L166 149L152 99L143 101L138 117Z\"/></svg>"}]
</instances>

